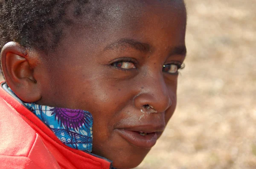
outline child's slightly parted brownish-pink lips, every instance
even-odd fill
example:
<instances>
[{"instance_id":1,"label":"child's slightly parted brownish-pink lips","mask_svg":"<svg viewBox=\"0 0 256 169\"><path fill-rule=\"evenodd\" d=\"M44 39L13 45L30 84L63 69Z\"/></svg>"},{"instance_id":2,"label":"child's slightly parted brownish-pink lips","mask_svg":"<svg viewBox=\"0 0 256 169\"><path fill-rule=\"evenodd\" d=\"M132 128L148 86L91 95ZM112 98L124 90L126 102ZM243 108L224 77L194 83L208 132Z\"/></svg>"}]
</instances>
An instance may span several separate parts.
<instances>
[{"instance_id":1,"label":"child's slightly parted brownish-pink lips","mask_svg":"<svg viewBox=\"0 0 256 169\"><path fill-rule=\"evenodd\" d=\"M158 130L150 130L148 127L131 127L115 130L133 146L151 149L156 144L158 136L163 132L162 127L160 128ZM140 135L140 131L146 132L147 135Z\"/></svg>"}]
</instances>

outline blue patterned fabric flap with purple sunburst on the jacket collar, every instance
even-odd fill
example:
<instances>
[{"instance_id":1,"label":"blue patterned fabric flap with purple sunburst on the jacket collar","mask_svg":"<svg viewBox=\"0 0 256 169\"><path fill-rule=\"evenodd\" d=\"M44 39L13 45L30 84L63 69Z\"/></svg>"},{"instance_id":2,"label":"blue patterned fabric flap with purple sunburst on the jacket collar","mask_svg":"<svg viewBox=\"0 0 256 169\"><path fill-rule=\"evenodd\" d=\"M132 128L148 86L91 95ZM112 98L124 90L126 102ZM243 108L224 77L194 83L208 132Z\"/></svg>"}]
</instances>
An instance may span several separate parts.
<instances>
[{"instance_id":1,"label":"blue patterned fabric flap with purple sunburst on the jacket collar","mask_svg":"<svg viewBox=\"0 0 256 169\"><path fill-rule=\"evenodd\" d=\"M92 152L93 117L84 110L49 107L24 103L41 119L65 145L85 152Z\"/></svg>"}]
</instances>

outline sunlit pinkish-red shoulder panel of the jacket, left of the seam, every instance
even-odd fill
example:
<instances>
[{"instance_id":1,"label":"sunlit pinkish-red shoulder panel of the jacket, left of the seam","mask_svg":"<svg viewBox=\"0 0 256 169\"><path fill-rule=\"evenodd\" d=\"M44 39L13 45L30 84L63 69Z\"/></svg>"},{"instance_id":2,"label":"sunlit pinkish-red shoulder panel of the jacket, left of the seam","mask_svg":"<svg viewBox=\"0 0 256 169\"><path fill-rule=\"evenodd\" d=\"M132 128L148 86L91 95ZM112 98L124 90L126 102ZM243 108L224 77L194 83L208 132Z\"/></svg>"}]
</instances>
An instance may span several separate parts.
<instances>
[{"instance_id":1,"label":"sunlit pinkish-red shoulder panel of the jacket, left of the seam","mask_svg":"<svg viewBox=\"0 0 256 169\"><path fill-rule=\"evenodd\" d=\"M35 142L35 131L20 114L0 98L0 155L27 156Z\"/></svg>"}]
</instances>

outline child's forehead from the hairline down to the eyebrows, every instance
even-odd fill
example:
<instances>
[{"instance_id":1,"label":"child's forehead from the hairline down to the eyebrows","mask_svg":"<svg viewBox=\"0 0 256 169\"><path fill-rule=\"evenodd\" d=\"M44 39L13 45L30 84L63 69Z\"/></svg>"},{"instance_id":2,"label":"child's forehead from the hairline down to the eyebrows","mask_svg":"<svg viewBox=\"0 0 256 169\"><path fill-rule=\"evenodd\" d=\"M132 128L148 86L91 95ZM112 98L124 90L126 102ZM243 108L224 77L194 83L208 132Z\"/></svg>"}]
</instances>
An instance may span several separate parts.
<instances>
[{"instance_id":1,"label":"child's forehead from the hairline down to the eyebrows","mask_svg":"<svg viewBox=\"0 0 256 169\"><path fill-rule=\"evenodd\" d=\"M89 51L103 50L108 43L122 38L152 45L158 43L155 39L166 41L168 45L172 45L172 41L184 44L186 9L183 0L105 0L102 6L101 14L89 26L88 22L79 22L76 28L66 32L66 47L77 43L88 47Z\"/></svg>"}]
</instances>

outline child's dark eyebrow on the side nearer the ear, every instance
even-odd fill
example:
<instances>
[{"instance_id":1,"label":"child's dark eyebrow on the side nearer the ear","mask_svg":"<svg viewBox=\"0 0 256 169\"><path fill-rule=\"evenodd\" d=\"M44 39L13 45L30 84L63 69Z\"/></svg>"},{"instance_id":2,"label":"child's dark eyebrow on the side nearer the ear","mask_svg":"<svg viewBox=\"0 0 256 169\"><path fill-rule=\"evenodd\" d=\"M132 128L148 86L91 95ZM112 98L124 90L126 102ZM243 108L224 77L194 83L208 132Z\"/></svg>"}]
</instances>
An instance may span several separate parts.
<instances>
[{"instance_id":1,"label":"child's dark eyebrow on the side nearer the ear","mask_svg":"<svg viewBox=\"0 0 256 169\"><path fill-rule=\"evenodd\" d=\"M134 48L137 51L142 51L142 52L149 52L150 51L150 45L147 43L142 43L134 39L120 39L116 42L113 42L109 44L104 51L106 50L113 50L113 49L119 49L119 48Z\"/></svg>"}]
</instances>

